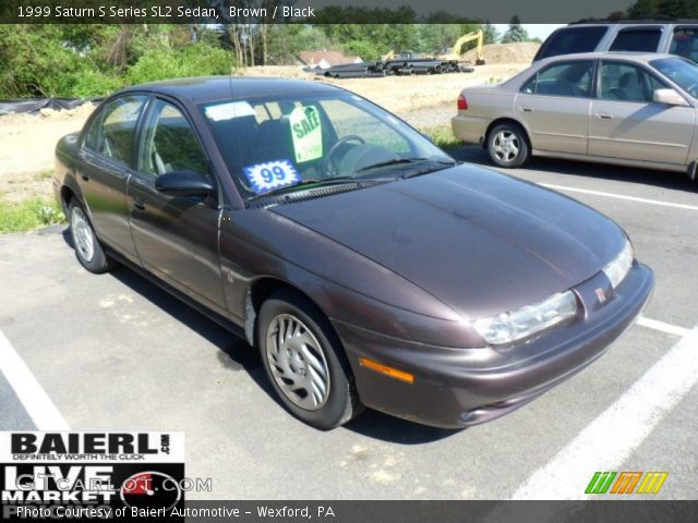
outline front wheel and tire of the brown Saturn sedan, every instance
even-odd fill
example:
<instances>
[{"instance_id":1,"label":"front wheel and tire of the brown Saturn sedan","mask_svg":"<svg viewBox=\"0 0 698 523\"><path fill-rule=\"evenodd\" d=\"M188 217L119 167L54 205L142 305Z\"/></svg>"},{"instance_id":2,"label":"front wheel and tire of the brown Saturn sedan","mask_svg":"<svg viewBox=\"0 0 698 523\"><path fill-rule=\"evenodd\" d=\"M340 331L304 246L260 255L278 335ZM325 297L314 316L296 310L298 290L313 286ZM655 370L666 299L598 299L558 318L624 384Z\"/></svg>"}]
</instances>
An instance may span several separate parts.
<instances>
[{"instance_id":1,"label":"front wheel and tire of the brown Saturn sedan","mask_svg":"<svg viewBox=\"0 0 698 523\"><path fill-rule=\"evenodd\" d=\"M256 339L269 381L296 417L329 430L362 411L341 342L310 301L274 293L260 309Z\"/></svg>"}]
</instances>

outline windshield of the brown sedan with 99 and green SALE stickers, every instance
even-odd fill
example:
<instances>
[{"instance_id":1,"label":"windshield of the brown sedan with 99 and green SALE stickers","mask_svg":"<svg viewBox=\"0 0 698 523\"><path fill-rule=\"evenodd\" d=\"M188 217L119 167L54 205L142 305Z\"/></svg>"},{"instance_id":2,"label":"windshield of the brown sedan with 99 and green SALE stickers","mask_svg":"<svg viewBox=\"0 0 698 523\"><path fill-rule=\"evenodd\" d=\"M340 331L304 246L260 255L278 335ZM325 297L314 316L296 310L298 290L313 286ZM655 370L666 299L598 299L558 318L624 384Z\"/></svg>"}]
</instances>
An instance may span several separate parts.
<instances>
[{"instance_id":1,"label":"windshield of the brown sedan with 99 and green SALE stickers","mask_svg":"<svg viewBox=\"0 0 698 523\"><path fill-rule=\"evenodd\" d=\"M405 122L345 92L233 99L202 111L245 199L454 163Z\"/></svg>"}]
</instances>

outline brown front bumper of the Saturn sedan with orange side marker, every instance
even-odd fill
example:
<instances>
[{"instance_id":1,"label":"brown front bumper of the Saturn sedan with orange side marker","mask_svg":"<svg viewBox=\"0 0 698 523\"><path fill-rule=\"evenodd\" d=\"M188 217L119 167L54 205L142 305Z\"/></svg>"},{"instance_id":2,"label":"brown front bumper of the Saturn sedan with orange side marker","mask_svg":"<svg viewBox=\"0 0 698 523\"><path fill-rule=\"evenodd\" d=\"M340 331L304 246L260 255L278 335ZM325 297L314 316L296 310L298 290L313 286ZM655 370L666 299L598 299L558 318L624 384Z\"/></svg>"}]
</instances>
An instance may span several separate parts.
<instances>
[{"instance_id":1,"label":"brown front bumper of the Saturn sedan with orange side marker","mask_svg":"<svg viewBox=\"0 0 698 523\"><path fill-rule=\"evenodd\" d=\"M579 317L507 350L433 346L333 324L366 406L426 425L460 428L520 408L601 356L633 326L653 285L652 271L637 263L613 294L599 273L575 288L583 308ZM607 302L595 297L600 287ZM363 367L359 357L411 373L414 381Z\"/></svg>"}]
</instances>

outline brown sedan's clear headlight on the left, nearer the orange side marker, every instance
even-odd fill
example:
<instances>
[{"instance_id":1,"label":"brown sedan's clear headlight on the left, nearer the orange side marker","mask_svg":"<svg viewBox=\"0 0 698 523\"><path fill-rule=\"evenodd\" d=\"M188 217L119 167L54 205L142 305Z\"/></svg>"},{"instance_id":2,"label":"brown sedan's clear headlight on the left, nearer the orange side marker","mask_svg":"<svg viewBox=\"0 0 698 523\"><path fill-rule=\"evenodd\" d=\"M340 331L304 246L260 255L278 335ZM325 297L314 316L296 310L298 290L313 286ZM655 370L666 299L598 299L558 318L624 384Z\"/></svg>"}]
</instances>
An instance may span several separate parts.
<instances>
[{"instance_id":1,"label":"brown sedan's clear headlight on the left, nearer the orange side marker","mask_svg":"<svg viewBox=\"0 0 698 523\"><path fill-rule=\"evenodd\" d=\"M516 311L474 321L473 326L488 343L510 343L559 324L577 314L577 299L571 291Z\"/></svg>"}]
</instances>

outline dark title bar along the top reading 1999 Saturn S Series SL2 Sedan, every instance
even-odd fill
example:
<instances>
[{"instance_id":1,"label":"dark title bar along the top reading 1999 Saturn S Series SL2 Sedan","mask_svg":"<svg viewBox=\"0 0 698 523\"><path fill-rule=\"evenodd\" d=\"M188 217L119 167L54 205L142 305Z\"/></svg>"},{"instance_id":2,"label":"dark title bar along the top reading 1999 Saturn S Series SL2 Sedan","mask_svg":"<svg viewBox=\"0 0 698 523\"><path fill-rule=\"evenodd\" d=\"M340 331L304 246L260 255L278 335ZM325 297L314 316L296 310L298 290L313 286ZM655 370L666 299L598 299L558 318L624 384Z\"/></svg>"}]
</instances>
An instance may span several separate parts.
<instances>
[{"instance_id":1,"label":"dark title bar along the top reading 1999 Saturn S Series SL2 Sedan","mask_svg":"<svg viewBox=\"0 0 698 523\"><path fill-rule=\"evenodd\" d=\"M633 3L633 0L2 0L0 23L444 24L509 23L517 15L524 23L561 24L582 19L619 20L627 16Z\"/></svg>"}]
</instances>

